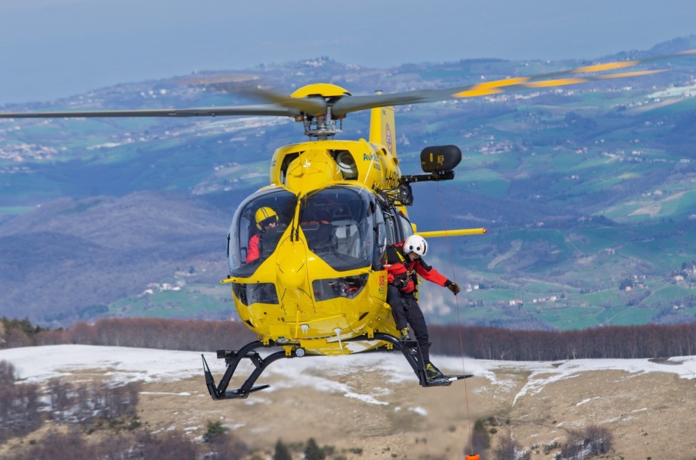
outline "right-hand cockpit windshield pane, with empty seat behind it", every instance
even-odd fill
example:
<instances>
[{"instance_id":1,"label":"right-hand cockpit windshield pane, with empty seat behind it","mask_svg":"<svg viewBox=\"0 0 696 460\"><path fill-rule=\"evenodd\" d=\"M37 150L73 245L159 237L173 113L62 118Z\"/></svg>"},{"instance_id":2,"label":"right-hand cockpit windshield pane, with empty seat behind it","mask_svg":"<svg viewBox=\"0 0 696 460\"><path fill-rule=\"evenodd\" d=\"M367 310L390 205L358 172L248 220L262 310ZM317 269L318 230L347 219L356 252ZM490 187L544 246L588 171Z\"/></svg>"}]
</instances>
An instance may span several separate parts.
<instances>
[{"instance_id":1,"label":"right-hand cockpit windshield pane, with empty seat behind it","mask_svg":"<svg viewBox=\"0 0 696 460\"><path fill-rule=\"evenodd\" d=\"M360 188L337 186L310 193L300 205L300 228L308 249L334 270L379 265L384 220L372 195Z\"/></svg>"}]
</instances>

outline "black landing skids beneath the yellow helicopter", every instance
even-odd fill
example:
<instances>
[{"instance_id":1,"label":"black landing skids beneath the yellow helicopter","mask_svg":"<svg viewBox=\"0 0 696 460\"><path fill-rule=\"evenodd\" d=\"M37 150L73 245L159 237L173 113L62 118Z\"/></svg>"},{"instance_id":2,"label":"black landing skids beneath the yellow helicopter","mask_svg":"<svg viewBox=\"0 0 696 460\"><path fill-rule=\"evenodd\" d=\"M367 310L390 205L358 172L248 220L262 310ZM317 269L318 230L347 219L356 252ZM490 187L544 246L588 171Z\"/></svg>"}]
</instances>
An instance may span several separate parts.
<instances>
[{"instance_id":1,"label":"black landing skids beneath the yellow helicopter","mask_svg":"<svg viewBox=\"0 0 696 460\"><path fill-rule=\"evenodd\" d=\"M365 342L365 341L373 341L373 340L381 340L383 342L390 343L393 345L393 350L399 350L404 354L404 357L406 358L406 361L409 362L411 365L411 368L413 368L413 372L416 372L416 376L418 376L418 383L420 386L449 386L452 384L453 381L461 380L461 379L466 379L468 377L473 377L471 374L466 374L466 375L443 375L442 377L436 378L436 379L428 379L427 375L425 373L425 363L423 362L422 359L422 354L420 352L420 346L418 345L418 342L416 340L411 340L404 342L402 340L397 339L394 336L390 336L389 334L374 334L374 338L368 338L367 336L359 336L351 339L347 339L347 342ZM256 391L264 390L266 388L269 388L270 385L258 385L254 386L256 380L260 377L261 373L274 361L278 361L278 359L283 359L283 358L299 358L295 353L295 350L292 350L290 352L286 351L285 349L279 352L271 353L269 356L266 356L265 358L262 358L260 354L256 351L258 348L268 348L268 347L280 347L281 345L270 342L267 345L264 345L264 343L256 340L254 342L248 343L244 345L240 350L237 351L232 351L232 350L217 350L217 357L218 359L224 359L225 363L227 364L227 369L225 370L225 375L223 375L222 379L220 380L219 384L215 384L215 379L212 375L212 372L210 372L210 368L208 366L207 361L205 361L205 356L200 355L201 358L203 358L203 374L205 375L205 385L208 388L208 393L210 393L210 396L212 397L213 400L229 400L229 399L246 399L251 393L255 393ZM386 346L376 348L374 350L370 350L371 352L380 352L380 351L390 351ZM304 354L304 357L309 357L309 356L321 356L321 355L313 355L313 354ZM255 369L253 372L251 372L251 375L244 381L244 384L240 386L239 388L235 388L234 390L228 390L228 386L230 385L230 380L232 377L235 375L235 371L237 370L237 365L239 365L239 362L242 361L242 359L249 359L251 360L251 363L253 363Z\"/></svg>"}]
</instances>

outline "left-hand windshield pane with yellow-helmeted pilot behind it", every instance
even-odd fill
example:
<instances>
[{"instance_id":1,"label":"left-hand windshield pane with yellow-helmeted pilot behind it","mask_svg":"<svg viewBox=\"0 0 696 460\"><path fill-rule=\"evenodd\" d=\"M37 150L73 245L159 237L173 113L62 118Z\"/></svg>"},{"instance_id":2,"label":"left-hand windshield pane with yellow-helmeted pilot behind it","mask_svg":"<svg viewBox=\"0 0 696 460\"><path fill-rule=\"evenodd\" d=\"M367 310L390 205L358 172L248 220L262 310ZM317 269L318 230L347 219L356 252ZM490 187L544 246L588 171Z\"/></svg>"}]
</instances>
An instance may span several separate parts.
<instances>
[{"instance_id":1,"label":"left-hand windshield pane with yellow-helmeted pilot behind it","mask_svg":"<svg viewBox=\"0 0 696 460\"><path fill-rule=\"evenodd\" d=\"M248 197L235 213L228 236L228 262L235 277L249 277L276 250L292 221L297 197L284 188Z\"/></svg>"}]
</instances>

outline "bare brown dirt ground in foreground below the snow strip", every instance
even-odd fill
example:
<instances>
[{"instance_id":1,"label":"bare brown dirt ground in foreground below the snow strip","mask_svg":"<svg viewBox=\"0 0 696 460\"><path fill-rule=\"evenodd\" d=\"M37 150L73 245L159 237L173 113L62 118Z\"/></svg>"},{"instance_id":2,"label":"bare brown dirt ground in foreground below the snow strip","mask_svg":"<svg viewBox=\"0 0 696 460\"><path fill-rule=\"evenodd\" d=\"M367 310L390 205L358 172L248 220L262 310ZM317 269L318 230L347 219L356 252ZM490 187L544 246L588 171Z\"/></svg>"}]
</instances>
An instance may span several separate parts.
<instances>
[{"instance_id":1,"label":"bare brown dirt ground in foreground below the snow strip","mask_svg":"<svg viewBox=\"0 0 696 460\"><path fill-rule=\"evenodd\" d=\"M271 388L226 401L209 397L201 375L143 384L138 411L150 432L179 429L191 438L202 436L209 421L220 421L255 450L255 459L270 459L279 438L287 445L315 438L335 448L333 457L347 459L463 459L472 452L494 459L491 449L509 435L529 450L530 459L553 459L559 448L549 445L590 425L612 434L603 459L696 459L695 379L619 370L578 370L557 379L551 371L532 373L514 363L494 373L421 388L413 375L388 383L379 368L358 375L353 368L339 372L317 365L303 374L331 381L333 389L295 386L271 374L259 380ZM74 378L96 375L84 371ZM336 383L348 390L336 391ZM470 446L477 420L484 420L488 451L476 445L477 437ZM6 443L0 457L45 431Z\"/></svg>"}]
</instances>

